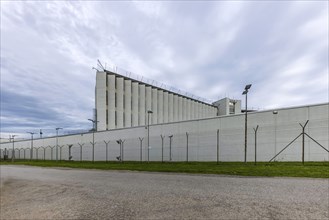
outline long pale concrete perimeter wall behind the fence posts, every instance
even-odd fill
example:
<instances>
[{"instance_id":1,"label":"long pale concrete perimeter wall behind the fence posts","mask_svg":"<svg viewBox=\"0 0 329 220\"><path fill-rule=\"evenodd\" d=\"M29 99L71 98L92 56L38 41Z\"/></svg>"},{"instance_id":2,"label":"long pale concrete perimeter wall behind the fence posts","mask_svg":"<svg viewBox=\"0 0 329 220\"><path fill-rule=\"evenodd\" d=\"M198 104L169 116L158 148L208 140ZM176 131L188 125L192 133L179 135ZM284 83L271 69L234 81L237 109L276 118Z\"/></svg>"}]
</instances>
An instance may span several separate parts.
<instances>
[{"instance_id":1,"label":"long pale concrete perimeter wall behind the fence posts","mask_svg":"<svg viewBox=\"0 0 329 220\"><path fill-rule=\"evenodd\" d=\"M247 160L254 160L254 130L257 125L258 161L269 161L276 153L283 149L289 142L301 133L299 123L304 124L307 120L305 132L313 139L328 149L328 103L313 106L276 109L273 111L262 111L248 114L248 150ZM189 160L190 161L215 161L217 158L217 130L219 130L219 158L221 161L243 161L244 160L244 115L231 115L213 117L199 120L189 120L183 122L163 123L150 126L150 160L161 160L161 138L164 135L164 159L169 160L169 136L172 138L172 159L174 161L186 160L186 132L189 134ZM143 160L147 158L147 129L145 126L134 128L115 129L95 133L95 160L105 160L105 143L109 143L109 160L116 160L119 155L119 145L116 140L123 139L125 160L140 159L140 141L142 143ZM302 142L299 137L291 144L276 160L279 161L301 161ZM80 149L82 149L82 160L91 160L92 156L92 133L60 136L59 146L62 149L62 159L68 159L68 145L73 144L73 160L80 160ZM84 144L80 148L79 144ZM33 141L33 158L43 159L45 152L46 159L55 159L56 138L36 139ZM30 158L31 141L15 142L15 157ZM45 147L46 150L43 151ZM38 148L38 150L36 149ZM2 143L0 145L1 157L4 149L9 150L11 157L12 143ZM20 151L18 149L21 149ZM38 152L37 152L38 151ZM53 156L51 156L53 152ZM20 155L19 155L20 154ZM305 137L305 160L306 161L328 161L329 154L307 136Z\"/></svg>"}]
</instances>

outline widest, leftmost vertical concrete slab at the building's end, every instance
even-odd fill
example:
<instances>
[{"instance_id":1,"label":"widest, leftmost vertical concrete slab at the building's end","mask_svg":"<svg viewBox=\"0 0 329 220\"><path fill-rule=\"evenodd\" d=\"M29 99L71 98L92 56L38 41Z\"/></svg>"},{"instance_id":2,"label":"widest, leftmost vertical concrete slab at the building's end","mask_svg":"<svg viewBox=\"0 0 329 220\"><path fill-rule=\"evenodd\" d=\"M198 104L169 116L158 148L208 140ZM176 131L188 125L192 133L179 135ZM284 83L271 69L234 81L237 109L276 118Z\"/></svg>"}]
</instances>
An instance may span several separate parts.
<instances>
[{"instance_id":1,"label":"widest, leftmost vertical concrete slab at the building's end","mask_svg":"<svg viewBox=\"0 0 329 220\"><path fill-rule=\"evenodd\" d=\"M97 114L97 130L106 130L106 73L96 73L96 114Z\"/></svg>"}]
</instances>

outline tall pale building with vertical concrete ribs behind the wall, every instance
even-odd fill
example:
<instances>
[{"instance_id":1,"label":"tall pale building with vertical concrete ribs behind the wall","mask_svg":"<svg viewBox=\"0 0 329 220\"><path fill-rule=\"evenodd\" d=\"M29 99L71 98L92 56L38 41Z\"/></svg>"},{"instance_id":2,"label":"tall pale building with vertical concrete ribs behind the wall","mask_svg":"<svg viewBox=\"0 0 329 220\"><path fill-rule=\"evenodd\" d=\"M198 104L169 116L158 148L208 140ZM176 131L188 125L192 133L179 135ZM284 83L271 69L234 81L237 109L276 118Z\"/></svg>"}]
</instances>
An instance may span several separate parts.
<instances>
[{"instance_id":1,"label":"tall pale building with vertical concrete ribs behind the wall","mask_svg":"<svg viewBox=\"0 0 329 220\"><path fill-rule=\"evenodd\" d=\"M97 71L95 93L97 131L218 114L212 104L107 70Z\"/></svg>"}]
</instances>

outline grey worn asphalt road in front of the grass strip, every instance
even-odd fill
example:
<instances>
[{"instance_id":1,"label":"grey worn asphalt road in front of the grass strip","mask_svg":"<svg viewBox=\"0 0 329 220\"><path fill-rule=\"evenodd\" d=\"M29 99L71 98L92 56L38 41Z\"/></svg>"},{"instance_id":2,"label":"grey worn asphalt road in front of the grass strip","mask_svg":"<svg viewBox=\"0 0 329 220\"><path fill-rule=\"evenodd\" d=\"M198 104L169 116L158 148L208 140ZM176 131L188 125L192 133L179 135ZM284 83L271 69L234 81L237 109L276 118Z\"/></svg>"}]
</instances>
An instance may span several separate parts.
<instances>
[{"instance_id":1,"label":"grey worn asphalt road in front of the grass strip","mask_svg":"<svg viewBox=\"0 0 329 220\"><path fill-rule=\"evenodd\" d=\"M0 171L1 219L329 219L329 179Z\"/></svg>"}]
</instances>

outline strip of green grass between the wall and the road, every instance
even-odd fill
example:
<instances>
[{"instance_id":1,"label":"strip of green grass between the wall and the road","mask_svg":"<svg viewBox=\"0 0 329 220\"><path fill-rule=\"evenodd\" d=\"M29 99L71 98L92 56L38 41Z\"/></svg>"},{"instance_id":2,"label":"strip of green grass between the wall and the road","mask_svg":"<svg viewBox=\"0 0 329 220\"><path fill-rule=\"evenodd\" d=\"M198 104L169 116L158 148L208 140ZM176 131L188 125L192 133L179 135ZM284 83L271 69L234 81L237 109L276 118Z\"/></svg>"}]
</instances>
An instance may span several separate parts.
<instances>
[{"instance_id":1,"label":"strip of green grass between the wall and the road","mask_svg":"<svg viewBox=\"0 0 329 220\"><path fill-rule=\"evenodd\" d=\"M224 174L240 176L285 176L285 177L315 177L329 178L329 162L90 162L90 161L29 161L17 160L15 162L0 161L0 165L30 165L41 167L69 167L100 170L134 170L149 172L176 172L176 173L201 173Z\"/></svg>"}]
</instances>

